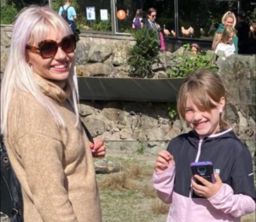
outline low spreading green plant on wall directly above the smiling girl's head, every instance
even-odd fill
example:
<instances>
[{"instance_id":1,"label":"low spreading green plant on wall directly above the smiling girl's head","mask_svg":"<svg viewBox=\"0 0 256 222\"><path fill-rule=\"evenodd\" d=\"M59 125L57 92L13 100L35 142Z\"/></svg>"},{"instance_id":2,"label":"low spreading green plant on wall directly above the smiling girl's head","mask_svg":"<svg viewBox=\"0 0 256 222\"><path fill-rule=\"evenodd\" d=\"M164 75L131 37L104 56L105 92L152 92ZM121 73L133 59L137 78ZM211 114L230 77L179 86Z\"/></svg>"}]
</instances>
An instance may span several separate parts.
<instances>
[{"instance_id":1,"label":"low spreading green plant on wall directly above the smiling girl's head","mask_svg":"<svg viewBox=\"0 0 256 222\"><path fill-rule=\"evenodd\" d=\"M188 44L183 47L189 49ZM185 54L172 54L170 68L166 71L166 74L170 77L186 77L189 72L200 68L218 71L215 58L215 54L207 54L205 51L201 51L199 54L191 54L187 50Z\"/></svg>"}]
</instances>

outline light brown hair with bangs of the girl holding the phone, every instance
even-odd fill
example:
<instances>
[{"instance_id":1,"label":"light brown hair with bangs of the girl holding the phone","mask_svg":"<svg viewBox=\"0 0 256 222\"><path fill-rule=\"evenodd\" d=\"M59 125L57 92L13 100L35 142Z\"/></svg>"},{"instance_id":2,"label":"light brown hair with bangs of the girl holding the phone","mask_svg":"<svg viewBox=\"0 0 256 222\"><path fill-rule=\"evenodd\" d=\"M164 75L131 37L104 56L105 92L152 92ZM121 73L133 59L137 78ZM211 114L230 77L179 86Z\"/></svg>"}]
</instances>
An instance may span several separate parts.
<instances>
[{"instance_id":1,"label":"light brown hair with bangs of the girl holding the phone","mask_svg":"<svg viewBox=\"0 0 256 222\"><path fill-rule=\"evenodd\" d=\"M218 74L211 70L199 70L191 72L185 78L177 94L177 111L182 119L185 119L185 107L187 99L192 100L200 111L211 111L216 108L222 97L227 99L227 91ZM219 121L220 129L230 128L230 124L224 120L224 111Z\"/></svg>"}]
</instances>

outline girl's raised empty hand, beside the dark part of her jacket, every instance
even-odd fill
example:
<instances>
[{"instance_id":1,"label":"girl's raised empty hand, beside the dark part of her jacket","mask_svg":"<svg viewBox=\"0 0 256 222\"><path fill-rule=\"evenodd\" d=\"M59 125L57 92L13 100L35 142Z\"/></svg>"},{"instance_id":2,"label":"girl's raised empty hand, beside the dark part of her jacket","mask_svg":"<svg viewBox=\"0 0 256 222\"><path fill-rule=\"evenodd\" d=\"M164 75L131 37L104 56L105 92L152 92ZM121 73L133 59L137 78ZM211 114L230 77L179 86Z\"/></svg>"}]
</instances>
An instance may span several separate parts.
<instances>
[{"instance_id":1,"label":"girl's raised empty hand, beside the dark part of her jacket","mask_svg":"<svg viewBox=\"0 0 256 222\"><path fill-rule=\"evenodd\" d=\"M170 152L163 150L158 153L156 161L154 163L154 170L156 172L162 172L166 168L171 168L174 165L174 158Z\"/></svg>"}]
</instances>

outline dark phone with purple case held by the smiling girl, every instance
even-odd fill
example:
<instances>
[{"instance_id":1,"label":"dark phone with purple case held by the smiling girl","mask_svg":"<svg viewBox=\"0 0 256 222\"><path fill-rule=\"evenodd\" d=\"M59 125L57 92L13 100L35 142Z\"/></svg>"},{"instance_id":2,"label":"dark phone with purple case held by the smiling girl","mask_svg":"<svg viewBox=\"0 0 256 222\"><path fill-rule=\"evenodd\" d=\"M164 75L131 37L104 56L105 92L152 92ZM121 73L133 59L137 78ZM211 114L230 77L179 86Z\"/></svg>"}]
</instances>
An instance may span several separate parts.
<instances>
[{"instance_id":1,"label":"dark phone with purple case held by the smiling girl","mask_svg":"<svg viewBox=\"0 0 256 222\"><path fill-rule=\"evenodd\" d=\"M190 167L192 170L192 174L198 174L204 179L207 179L212 184L215 183L215 178L213 174L213 166L212 162L204 161L204 162L191 162ZM195 182L199 185L203 185L200 181L195 179Z\"/></svg>"}]
</instances>

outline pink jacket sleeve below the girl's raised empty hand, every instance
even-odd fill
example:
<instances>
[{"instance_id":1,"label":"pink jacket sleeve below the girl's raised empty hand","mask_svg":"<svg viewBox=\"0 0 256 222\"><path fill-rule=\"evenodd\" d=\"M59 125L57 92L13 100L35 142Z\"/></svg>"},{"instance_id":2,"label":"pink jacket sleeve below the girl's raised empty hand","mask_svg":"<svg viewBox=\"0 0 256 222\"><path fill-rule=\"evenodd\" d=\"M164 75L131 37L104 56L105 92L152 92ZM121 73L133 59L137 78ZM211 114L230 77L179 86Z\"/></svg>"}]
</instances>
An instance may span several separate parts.
<instances>
[{"instance_id":1,"label":"pink jacket sleeve below the girl's raised empty hand","mask_svg":"<svg viewBox=\"0 0 256 222\"><path fill-rule=\"evenodd\" d=\"M167 168L163 172L155 172L152 177L154 189L163 202L172 202L172 192L174 188L175 165Z\"/></svg>"}]
</instances>

